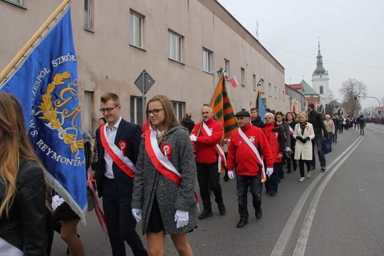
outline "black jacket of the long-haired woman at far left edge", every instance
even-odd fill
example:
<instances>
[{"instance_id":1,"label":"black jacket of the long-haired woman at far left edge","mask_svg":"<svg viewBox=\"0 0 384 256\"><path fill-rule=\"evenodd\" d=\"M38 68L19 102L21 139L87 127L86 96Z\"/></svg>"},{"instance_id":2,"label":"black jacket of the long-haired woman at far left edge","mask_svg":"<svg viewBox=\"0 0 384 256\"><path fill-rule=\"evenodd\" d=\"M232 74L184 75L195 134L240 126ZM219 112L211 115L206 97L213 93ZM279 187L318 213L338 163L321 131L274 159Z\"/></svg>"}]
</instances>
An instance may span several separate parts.
<instances>
[{"instance_id":1,"label":"black jacket of the long-haired woman at far left edge","mask_svg":"<svg viewBox=\"0 0 384 256\"><path fill-rule=\"evenodd\" d=\"M9 218L3 212L0 219L0 237L24 255L46 255L46 181L42 168L34 161L20 160L16 193ZM1 201L4 196L5 185L1 182Z\"/></svg>"}]
</instances>

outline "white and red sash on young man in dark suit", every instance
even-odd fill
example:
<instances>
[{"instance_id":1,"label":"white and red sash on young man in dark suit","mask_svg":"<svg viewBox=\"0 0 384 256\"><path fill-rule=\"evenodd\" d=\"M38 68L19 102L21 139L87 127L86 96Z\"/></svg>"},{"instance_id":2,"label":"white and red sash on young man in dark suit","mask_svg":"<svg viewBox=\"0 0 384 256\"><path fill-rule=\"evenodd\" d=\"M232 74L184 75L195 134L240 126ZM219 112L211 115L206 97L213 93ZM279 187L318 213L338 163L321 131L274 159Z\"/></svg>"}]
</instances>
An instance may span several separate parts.
<instances>
[{"instance_id":1,"label":"white and red sash on young man in dark suit","mask_svg":"<svg viewBox=\"0 0 384 256\"><path fill-rule=\"evenodd\" d=\"M105 124L100 127L100 140L104 149L111 156L112 161L130 177L135 177L136 167L132 161L124 156L123 150L120 150L111 138L106 134Z\"/></svg>"}]
</instances>

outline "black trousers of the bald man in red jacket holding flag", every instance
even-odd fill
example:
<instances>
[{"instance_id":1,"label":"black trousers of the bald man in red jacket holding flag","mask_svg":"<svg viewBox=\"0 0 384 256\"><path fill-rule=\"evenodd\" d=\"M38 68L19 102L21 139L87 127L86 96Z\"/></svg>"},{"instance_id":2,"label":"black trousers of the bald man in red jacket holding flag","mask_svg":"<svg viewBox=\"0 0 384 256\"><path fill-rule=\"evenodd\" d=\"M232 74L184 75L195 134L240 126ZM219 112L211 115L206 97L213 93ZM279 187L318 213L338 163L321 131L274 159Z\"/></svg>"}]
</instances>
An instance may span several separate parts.
<instances>
[{"instance_id":1,"label":"black trousers of the bald man in red jacket holding flag","mask_svg":"<svg viewBox=\"0 0 384 256\"><path fill-rule=\"evenodd\" d=\"M215 202L218 204L223 203L223 196L220 186L220 173L218 173L218 163L196 163L196 167L197 180L200 187L200 197L201 201L203 201L204 210L212 210L208 187L214 191Z\"/></svg>"}]
</instances>

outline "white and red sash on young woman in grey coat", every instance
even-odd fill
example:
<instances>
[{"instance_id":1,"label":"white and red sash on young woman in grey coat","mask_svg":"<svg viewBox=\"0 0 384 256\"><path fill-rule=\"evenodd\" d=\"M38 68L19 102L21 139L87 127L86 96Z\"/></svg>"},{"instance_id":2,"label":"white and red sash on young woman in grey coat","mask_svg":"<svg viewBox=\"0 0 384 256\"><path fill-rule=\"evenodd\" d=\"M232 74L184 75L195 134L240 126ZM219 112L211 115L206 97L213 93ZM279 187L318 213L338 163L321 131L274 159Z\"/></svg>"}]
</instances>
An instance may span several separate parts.
<instances>
[{"instance_id":1,"label":"white and red sash on young woman in grey coat","mask_svg":"<svg viewBox=\"0 0 384 256\"><path fill-rule=\"evenodd\" d=\"M181 174L177 171L175 166L168 160L168 157L161 153L156 139L156 131L150 127L150 131L145 134L145 150L155 168L165 177L181 184Z\"/></svg>"}]
</instances>

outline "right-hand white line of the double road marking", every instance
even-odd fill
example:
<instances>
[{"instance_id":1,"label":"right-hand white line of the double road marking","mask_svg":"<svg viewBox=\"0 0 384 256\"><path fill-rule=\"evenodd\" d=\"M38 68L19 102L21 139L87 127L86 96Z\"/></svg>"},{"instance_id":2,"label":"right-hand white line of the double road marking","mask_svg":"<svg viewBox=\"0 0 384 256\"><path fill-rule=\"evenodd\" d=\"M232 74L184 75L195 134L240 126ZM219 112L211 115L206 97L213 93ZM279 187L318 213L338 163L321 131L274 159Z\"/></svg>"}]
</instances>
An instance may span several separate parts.
<instances>
[{"instance_id":1,"label":"right-hand white line of the double road marking","mask_svg":"<svg viewBox=\"0 0 384 256\"><path fill-rule=\"evenodd\" d=\"M361 138L361 139L360 139ZM362 141L362 137L360 137L359 140L356 145L352 148L352 150L347 154L345 155L345 157L343 157L342 160L340 160L340 162L331 170L331 172L329 172L329 174L327 175L327 177L325 177L325 179L323 180L323 182L321 183L321 185L318 187L316 193L315 193L315 197L313 198L312 200L312 203L311 205L309 206L309 210L307 212L307 216L305 217L305 220L304 220L304 224L303 224L303 227L302 227L302 230L300 231L300 236L298 237L297 239L297 243L296 243L296 248L293 252L293 255L294 256L301 256L301 255L304 255L304 252L305 252L305 248L307 246L307 241L308 241L308 236L309 236L309 231L311 230L311 226L312 226L312 221L313 221L313 217L315 215L315 211L316 211L316 208L317 208L317 204L318 204L318 200L320 199L320 197L322 196L323 194L323 191L325 189L325 187L327 186L329 180L332 178L332 176L334 175L334 173L336 172L336 170L348 159L348 157L356 150L357 146L360 144L360 142ZM348 150L347 150L348 151Z\"/></svg>"}]
</instances>

